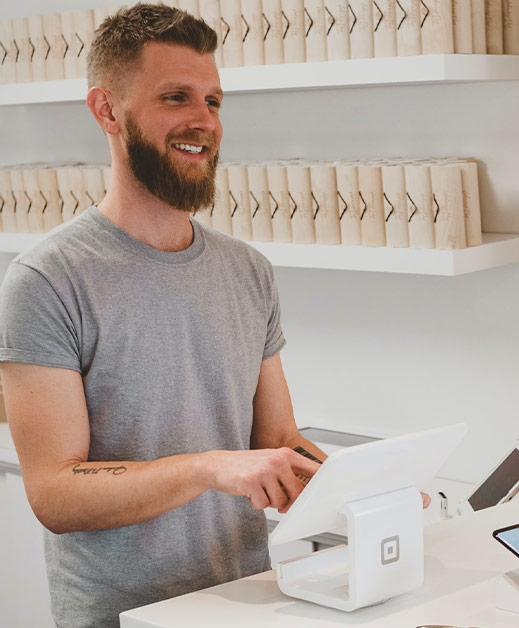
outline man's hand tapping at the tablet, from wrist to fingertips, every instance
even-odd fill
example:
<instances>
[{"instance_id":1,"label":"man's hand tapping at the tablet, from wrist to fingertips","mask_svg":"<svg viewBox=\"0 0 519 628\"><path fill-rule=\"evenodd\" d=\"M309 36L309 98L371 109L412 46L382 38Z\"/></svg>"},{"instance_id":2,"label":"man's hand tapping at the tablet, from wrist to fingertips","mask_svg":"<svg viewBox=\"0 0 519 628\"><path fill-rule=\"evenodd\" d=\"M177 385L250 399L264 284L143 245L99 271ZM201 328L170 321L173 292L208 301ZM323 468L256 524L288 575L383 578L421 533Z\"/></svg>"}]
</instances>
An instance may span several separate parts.
<instances>
[{"instance_id":1,"label":"man's hand tapping at the tablet, from wrist to fingertips","mask_svg":"<svg viewBox=\"0 0 519 628\"><path fill-rule=\"evenodd\" d=\"M271 507L286 512L304 484L298 475L311 478L320 468L288 447L253 451L211 451L212 488L244 495L257 510Z\"/></svg>"}]
</instances>

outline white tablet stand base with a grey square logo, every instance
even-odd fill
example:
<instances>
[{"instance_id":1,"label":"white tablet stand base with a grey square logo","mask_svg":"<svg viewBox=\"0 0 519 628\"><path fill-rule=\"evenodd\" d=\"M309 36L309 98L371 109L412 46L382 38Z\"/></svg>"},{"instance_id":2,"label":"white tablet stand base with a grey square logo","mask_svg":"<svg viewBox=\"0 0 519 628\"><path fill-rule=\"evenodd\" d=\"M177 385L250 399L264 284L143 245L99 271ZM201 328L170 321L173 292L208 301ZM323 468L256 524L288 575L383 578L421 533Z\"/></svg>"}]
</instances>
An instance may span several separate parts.
<instances>
[{"instance_id":1,"label":"white tablet stand base with a grey square logo","mask_svg":"<svg viewBox=\"0 0 519 628\"><path fill-rule=\"evenodd\" d=\"M284 593L353 611L422 585L423 512L416 488L349 501L339 513L348 545L279 563Z\"/></svg>"}]
</instances>

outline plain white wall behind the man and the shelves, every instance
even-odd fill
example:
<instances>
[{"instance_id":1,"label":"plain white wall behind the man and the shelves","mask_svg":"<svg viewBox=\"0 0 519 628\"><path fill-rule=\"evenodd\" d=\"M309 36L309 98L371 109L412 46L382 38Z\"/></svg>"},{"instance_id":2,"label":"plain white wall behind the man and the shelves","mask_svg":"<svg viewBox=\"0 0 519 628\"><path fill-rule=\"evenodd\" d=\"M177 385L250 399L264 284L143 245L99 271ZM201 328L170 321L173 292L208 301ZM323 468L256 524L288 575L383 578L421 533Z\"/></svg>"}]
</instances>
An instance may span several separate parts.
<instances>
[{"instance_id":1,"label":"plain white wall behind the man and the shelves","mask_svg":"<svg viewBox=\"0 0 519 628\"><path fill-rule=\"evenodd\" d=\"M94 4L94 0L92 1ZM113 2L95 2L111 5ZM91 6L35 0L2 17ZM486 231L519 232L519 82L230 96L223 157L475 156ZM86 107L2 110L1 164L108 158ZM458 278L277 269L299 424L393 434L465 420L477 481L519 437L519 267Z\"/></svg>"}]
</instances>

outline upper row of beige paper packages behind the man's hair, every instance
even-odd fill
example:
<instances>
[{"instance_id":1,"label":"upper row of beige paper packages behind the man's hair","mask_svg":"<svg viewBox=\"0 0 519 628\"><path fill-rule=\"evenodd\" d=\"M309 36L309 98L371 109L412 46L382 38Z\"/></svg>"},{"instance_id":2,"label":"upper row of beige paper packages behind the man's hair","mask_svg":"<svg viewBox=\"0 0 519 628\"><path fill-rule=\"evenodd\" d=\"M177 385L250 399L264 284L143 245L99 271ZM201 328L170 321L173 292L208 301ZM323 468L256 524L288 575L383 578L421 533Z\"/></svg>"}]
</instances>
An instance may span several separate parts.
<instances>
[{"instance_id":1,"label":"upper row of beige paper packages behind the man's hair","mask_svg":"<svg viewBox=\"0 0 519 628\"><path fill-rule=\"evenodd\" d=\"M519 54L519 0L165 0L216 30L220 67L437 53ZM86 76L119 7L0 21L0 83Z\"/></svg>"}]
</instances>

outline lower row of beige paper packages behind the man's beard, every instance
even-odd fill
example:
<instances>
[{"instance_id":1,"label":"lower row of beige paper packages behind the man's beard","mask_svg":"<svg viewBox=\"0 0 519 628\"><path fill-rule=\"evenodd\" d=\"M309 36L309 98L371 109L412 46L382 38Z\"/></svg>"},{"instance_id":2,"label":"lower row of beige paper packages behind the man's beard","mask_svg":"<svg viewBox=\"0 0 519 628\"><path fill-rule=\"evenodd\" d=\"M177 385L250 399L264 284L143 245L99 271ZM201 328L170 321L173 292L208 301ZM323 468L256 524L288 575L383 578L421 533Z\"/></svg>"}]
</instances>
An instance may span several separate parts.
<instances>
[{"instance_id":1,"label":"lower row of beige paper packages behind the man's beard","mask_svg":"<svg viewBox=\"0 0 519 628\"><path fill-rule=\"evenodd\" d=\"M110 168L0 170L2 230L44 232L100 202ZM197 220L242 240L459 249L481 244L468 158L225 163Z\"/></svg>"}]
</instances>

